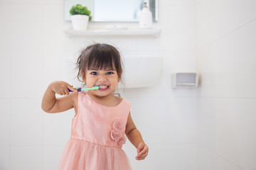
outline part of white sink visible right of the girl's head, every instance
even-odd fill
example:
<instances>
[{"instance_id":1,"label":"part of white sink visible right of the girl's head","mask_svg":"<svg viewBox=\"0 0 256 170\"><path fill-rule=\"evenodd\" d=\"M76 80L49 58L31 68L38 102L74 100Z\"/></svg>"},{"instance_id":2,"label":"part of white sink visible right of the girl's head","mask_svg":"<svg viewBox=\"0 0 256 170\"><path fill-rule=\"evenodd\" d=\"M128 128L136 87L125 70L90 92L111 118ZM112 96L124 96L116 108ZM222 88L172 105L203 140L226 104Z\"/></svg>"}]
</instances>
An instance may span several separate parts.
<instances>
[{"instance_id":1,"label":"part of white sink visible right of the girl's head","mask_svg":"<svg viewBox=\"0 0 256 170\"><path fill-rule=\"evenodd\" d=\"M124 88L150 87L159 82L163 57L124 57L123 62Z\"/></svg>"}]
</instances>

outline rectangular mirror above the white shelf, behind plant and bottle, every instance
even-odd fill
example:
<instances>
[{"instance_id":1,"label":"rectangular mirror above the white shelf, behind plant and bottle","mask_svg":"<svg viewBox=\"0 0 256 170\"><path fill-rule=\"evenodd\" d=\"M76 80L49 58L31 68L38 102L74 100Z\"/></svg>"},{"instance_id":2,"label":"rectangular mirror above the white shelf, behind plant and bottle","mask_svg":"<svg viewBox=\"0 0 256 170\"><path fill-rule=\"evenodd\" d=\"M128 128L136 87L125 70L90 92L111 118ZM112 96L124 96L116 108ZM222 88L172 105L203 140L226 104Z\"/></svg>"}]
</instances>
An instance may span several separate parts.
<instances>
[{"instance_id":1,"label":"rectangular mirror above the white shelf, behind plant and bottle","mask_svg":"<svg viewBox=\"0 0 256 170\"><path fill-rule=\"evenodd\" d=\"M158 0L64 0L64 19L70 21L70 8L76 4L87 6L91 11L92 21L96 22L138 22L139 13L146 2L157 21Z\"/></svg>"}]
</instances>

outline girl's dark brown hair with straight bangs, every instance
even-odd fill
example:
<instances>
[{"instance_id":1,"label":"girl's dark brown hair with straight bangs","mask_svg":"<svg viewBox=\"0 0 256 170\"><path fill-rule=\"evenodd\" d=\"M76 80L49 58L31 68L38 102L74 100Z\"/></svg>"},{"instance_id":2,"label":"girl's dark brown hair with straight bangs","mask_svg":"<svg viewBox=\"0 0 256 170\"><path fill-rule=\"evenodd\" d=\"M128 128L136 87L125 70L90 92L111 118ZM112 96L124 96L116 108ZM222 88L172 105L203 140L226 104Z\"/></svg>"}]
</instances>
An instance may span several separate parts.
<instances>
[{"instance_id":1,"label":"girl's dark brown hair with straight bangs","mask_svg":"<svg viewBox=\"0 0 256 170\"><path fill-rule=\"evenodd\" d=\"M122 61L118 50L112 45L96 43L86 47L76 62L78 80L85 75L86 69L115 69L118 77L122 77Z\"/></svg>"}]
</instances>

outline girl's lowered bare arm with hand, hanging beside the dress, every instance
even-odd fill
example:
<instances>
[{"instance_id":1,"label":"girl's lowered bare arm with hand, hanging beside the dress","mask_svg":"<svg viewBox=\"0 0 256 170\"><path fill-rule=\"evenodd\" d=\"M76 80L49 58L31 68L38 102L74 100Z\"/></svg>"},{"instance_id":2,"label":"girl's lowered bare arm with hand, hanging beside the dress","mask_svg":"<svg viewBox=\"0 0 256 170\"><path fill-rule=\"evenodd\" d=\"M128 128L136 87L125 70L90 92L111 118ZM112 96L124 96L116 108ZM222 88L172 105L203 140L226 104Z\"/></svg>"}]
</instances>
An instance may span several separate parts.
<instances>
[{"instance_id":1,"label":"girl's lowered bare arm with hand, hanging beside the dress","mask_svg":"<svg viewBox=\"0 0 256 170\"><path fill-rule=\"evenodd\" d=\"M127 135L130 142L132 142L132 145L137 148L137 160L145 159L149 152L149 147L144 143L144 140L142 139L142 135L137 130L136 126L134 125L134 122L131 117L131 113L128 115L127 119L127 125L125 134Z\"/></svg>"}]
</instances>

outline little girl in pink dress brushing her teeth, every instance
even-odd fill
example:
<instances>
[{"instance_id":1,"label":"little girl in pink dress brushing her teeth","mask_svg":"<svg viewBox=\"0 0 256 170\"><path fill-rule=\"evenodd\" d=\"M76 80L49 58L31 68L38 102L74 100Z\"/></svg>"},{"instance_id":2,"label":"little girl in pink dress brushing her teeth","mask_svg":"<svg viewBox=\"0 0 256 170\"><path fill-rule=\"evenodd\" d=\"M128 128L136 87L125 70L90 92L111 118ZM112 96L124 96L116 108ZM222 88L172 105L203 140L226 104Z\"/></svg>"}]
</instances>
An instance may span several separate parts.
<instances>
[{"instance_id":1,"label":"little girl in pink dress brushing her teeth","mask_svg":"<svg viewBox=\"0 0 256 170\"><path fill-rule=\"evenodd\" d=\"M122 150L126 137L137 148L137 160L144 159L149 148L132 120L130 104L114 96L122 77L119 52L107 44L90 45L78 57L78 79L88 88L98 90L77 92L64 81L48 86L42 108L47 113L75 109L71 135L60 159L64 170L126 170L131 169L129 159ZM75 91L75 93L70 93ZM55 98L55 94L66 95Z\"/></svg>"}]
</instances>

